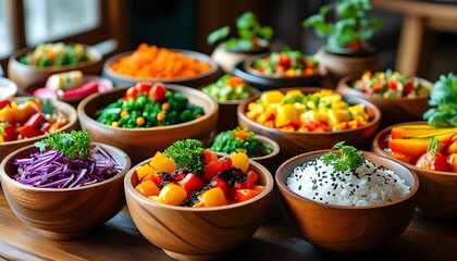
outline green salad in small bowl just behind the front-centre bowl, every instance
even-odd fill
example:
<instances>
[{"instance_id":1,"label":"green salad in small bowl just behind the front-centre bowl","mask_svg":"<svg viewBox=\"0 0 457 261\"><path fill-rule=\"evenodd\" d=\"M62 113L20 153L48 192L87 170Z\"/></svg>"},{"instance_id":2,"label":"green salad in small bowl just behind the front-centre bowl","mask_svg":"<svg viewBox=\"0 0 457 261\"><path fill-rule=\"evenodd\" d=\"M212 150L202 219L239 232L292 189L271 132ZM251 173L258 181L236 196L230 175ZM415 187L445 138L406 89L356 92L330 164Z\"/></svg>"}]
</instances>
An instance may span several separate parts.
<instances>
[{"instance_id":1,"label":"green salad in small bowl just behind the front-centre bowl","mask_svg":"<svg viewBox=\"0 0 457 261\"><path fill-rule=\"evenodd\" d=\"M272 148L260 141L255 133L239 127L218 134L210 149L227 154L243 152L249 158L268 156L272 152Z\"/></svg>"}]
</instances>

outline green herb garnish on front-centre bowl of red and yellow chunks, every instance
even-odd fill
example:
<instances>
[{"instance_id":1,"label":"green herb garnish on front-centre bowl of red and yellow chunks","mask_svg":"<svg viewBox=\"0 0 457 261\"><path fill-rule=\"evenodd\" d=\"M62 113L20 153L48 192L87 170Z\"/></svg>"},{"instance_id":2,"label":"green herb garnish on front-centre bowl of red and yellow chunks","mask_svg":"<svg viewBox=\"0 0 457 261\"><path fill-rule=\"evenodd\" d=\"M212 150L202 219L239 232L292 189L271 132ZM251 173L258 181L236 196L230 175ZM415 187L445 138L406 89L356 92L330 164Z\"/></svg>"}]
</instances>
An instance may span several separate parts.
<instances>
[{"instance_id":1,"label":"green herb garnish on front-centre bowl of red and yellow chunks","mask_svg":"<svg viewBox=\"0 0 457 261\"><path fill-rule=\"evenodd\" d=\"M203 145L196 139L174 141L163 153L171 158L180 167L202 175L205 167Z\"/></svg>"}]
</instances>

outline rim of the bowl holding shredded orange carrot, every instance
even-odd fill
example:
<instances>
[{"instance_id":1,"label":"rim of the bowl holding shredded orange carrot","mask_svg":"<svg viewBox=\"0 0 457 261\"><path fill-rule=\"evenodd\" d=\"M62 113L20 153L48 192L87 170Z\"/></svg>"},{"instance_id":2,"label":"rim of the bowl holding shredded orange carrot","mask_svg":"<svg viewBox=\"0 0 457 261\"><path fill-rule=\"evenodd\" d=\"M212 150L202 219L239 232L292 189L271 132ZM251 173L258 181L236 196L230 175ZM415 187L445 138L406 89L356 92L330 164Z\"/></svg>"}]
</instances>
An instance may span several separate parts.
<instances>
[{"instance_id":1,"label":"rim of the bowl holding shredded orange carrot","mask_svg":"<svg viewBox=\"0 0 457 261\"><path fill-rule=\"evenodd\" d=\"M175 77L175 78L140 78L140 77L133 77L133 76L127 76L127 75L122 75L120 73L114 72L113 70L111 70L111 64L114 63L115 61L120 60L123 57L126 55L131 55L132 53L134 53L135 51L127 51L127 52L122 52L119 54L115 54L111 58L109 58L104 64L103 64L103 70L107 72L107 76L109 77L115 77L122 80L129 80L129 82L161 82L161 83L175 83L175 82L184 82L184 80L194 80L194 79L199 79L199 78L203 78L207 77L209 75L212 75L214 73L217 73L219 71L219 65L218 63L215 63L209 55L202 53L202 52L197 52L197 51L192 51L192 50L186 50L186 49L172 49L170 48L170 50L174 51L174 52L180 52L183 53L192 59L198 60L199 62L205 62L211 65L211 69L205 73L200 73L197 75L194 75L192 77ZM114 80L115 82L115 80Z\"/></svg>"}]
</instances>

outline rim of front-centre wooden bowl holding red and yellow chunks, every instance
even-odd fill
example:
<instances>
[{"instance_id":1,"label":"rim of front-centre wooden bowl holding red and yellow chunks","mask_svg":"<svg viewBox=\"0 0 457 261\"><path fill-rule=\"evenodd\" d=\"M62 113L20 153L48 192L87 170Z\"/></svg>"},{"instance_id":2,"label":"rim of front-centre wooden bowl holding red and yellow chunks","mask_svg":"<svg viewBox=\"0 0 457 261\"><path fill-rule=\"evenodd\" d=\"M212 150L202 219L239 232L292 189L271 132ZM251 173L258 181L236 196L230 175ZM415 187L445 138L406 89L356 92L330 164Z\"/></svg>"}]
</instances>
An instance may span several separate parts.
<instances>
[{"instance_id":1,"label":"rim of front-centre wooden bowl holding red and yellow chunks","mask_svg":"<svg viewBox=\"0 0 457 261\"><path fill-rule=\"evenodd\" d=\"M168 210L174 210L174 211L185 211L185 212L212 212L212 211L223 211L223 210L230 210L230 209L236 209L245 206L249 206L251 203L255 203L271 192L273 192L274 187L274 178L273 175L270 173L267 167L261 165L260 163L249 160L249 166L254 165L260 170L261 173L257 173L259 176L262 176L262 178L265 181L264 189L259 195L257 195L254 198L250 198L243 202L232 203L232 204L225 204L225 206L219 206L219 207L206 207L206 208L190 208L190 207L181 207L181 206L171 206L171 204L164 204L160 202L156 202L153 200L148 199L147 197L140 195L138 191L135 190L134 186L132 185L132 176L136 174L136 169L138 166L141 166L146 163L148 163L152 158L149 158L147 160L144 160L133 166L127 174L124 177L124 187L125 187L125 194L128 194L133 200L136 202L147 206L147 208L163 208ZM249 167L250 169L250 167Z\"/></svg>"}]
</instances>

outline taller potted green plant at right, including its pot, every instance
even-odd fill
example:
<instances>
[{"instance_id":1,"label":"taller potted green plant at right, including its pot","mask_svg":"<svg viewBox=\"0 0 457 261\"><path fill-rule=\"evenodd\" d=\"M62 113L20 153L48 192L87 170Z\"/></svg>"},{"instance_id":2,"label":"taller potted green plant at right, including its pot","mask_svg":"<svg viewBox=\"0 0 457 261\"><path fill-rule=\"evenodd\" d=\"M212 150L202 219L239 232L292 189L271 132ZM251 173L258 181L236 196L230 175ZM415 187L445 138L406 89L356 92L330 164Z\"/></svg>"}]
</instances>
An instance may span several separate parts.
<instances>
[{"instance_id":1,"label":"taller potted green plant at right, including its pot","mask_svg":"<svg viewBox=\"0 0 457 261\"><path fill-rule=\"evenodd\" d=\"M382 27L381 20L367 17L371 9L370 0L337 0L304 21L305 28L313 27L319 37L326 38L316 55L333 80L382 69L379 55L367 42Z\"/></svg>"}]
</instances>

